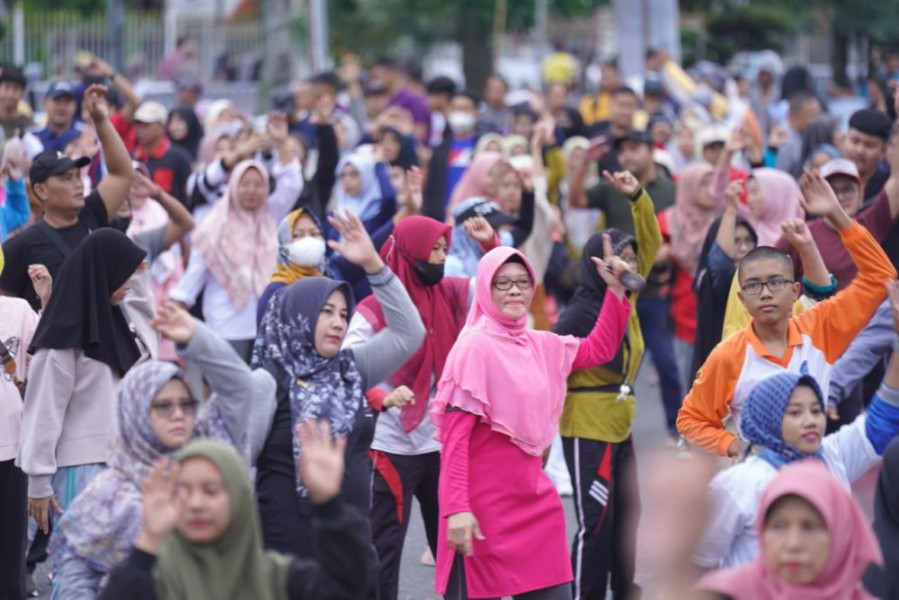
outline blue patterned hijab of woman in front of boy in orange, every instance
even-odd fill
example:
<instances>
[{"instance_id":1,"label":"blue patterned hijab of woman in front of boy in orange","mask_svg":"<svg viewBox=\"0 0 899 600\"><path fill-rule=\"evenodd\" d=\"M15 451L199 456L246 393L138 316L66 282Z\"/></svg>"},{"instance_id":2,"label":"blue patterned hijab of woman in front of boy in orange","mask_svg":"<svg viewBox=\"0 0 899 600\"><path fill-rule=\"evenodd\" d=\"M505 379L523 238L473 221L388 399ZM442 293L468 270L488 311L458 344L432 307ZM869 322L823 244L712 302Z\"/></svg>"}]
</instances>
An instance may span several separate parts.
<instances>
[{"instance_id":1,"label":"blue patterned hijab of woman in front of boy in orange","mask_svg":"<svg viewBox=\"0 0 899 600\"><path fill-rule=\"evenodd\" d=\"M740 413L740 434L747 442L759 446L759 456L779 469L783 465L821 456L819 450L814 455L806 454L791 446L783 439L783 416L790 396L798 386L805 385L815 392L821 410L824 411L824 395L815 378L807 374L778 373L757 384L743 405Z\"/></svg>"}]
</instances>

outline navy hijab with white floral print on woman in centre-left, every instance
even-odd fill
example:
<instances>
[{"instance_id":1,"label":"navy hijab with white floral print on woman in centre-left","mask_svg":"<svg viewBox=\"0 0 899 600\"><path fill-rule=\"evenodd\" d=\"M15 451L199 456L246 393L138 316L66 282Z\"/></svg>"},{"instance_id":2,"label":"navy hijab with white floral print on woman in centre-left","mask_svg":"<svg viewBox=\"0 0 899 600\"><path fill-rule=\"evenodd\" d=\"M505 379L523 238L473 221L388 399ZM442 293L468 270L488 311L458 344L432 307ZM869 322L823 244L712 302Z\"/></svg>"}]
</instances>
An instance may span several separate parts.
<instances>
[{"instance_id":1,"label":"navy hijab with white floral print on woman in centre-left","mask_svg":"<svg viewBox=\"0 0 899 600\"><path fill-rule=\"evenodd\" d=\"M353 292L349 284L327 277L305 277L276 291L269 302L256 344L253 368L262 367L287 390L293 423L308 419L327 419L335 436L346 435L365 402L362 376L356 368L352 350L341 350L325 358L315 349L315 327L328 297L340 291L353 311ZM294 460L301 448L293 437ZM297 481L297 491L308 491Z\"/></svg>"}]
</instances>

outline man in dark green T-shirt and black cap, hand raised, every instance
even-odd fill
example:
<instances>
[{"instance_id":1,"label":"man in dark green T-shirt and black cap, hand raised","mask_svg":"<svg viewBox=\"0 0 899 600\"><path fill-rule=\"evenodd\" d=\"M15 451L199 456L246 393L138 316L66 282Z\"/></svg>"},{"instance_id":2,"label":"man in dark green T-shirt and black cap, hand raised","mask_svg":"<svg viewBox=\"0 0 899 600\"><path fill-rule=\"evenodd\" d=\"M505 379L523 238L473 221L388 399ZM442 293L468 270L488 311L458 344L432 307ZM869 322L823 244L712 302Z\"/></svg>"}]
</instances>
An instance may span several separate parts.
<instances>
[{"instance_id":1,"label":"man in dark green T-shirt and black cap, hand raised","mask_svg":"<svg viewBox=\"0 0 899 600\"><path fill-rule=\"evenodd\" d=\"M652 157L652 141L649 133L631 130L615 141L618 162L621 167L634 174L652 197L656 213L674 204L674 182L662 173ZM571 176L568 201L575 208L598 208L606 216L606 227L620 229L635 235L634 217L628 199L605 179L588 190L584 190L584 179L587 168L596 160L600 147L591 146L587 152L587 160L574 171Z\"/></svg>"}]
</instances>

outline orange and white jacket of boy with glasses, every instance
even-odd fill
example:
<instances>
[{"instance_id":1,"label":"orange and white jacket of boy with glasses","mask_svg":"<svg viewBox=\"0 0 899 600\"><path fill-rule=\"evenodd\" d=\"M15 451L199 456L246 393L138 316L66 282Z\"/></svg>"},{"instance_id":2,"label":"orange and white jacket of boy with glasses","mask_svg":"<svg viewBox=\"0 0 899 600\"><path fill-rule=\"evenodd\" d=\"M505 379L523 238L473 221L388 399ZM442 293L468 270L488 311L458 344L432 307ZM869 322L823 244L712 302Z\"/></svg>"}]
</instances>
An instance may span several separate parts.
<instances>
[{"instance_id":1,"label":"orange and white jacket of boy with glasses","mask_svg":"<svg viewBox=\"0 0 899 600\"><path fill-rule=\"evenodd\" d=\"M771 355L752 323L718 344L677 415L677 429L688 442L727 456L736 436L724 429L724 418L730 413L739 431L743 403L766 377L783 371L807 373L821 389L828 389L833 363L886 297L887 281L896 278L892 263L867 229L853 221L840 237L858 267L856 278L833 298L790 319L789 347L781 358Z\"/></svg>"}]
</instances>

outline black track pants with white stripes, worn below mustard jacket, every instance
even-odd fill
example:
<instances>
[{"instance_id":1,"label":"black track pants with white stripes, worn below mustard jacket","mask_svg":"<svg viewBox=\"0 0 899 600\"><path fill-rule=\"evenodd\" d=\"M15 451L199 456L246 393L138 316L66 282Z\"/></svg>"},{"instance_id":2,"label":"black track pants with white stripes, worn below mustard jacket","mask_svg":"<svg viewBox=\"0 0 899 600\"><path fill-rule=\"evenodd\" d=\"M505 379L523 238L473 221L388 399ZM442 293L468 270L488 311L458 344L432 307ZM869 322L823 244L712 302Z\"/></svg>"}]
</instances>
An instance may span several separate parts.
<instances>
[{"instance_id":1,"label":"black track pants with white stripes, worn below mustard jacket","mask_svg":"<svg viewBox=\"0 0 899 600\"><path fill-rule=\"evenodd\" d=\"M631 438L613 444L562 438L578 530L571 548L575 600L639 598L634 584L640 494Z\"/></svg>"}]
</instances>

